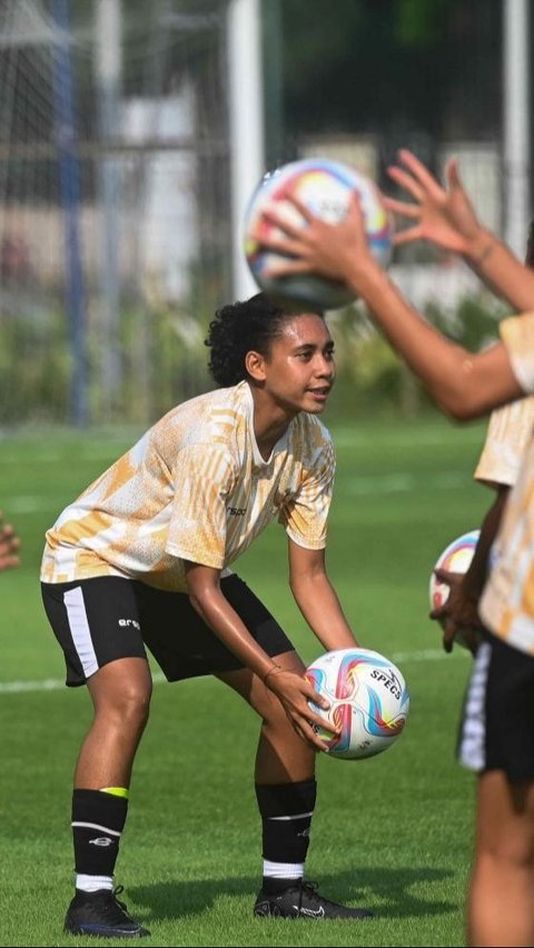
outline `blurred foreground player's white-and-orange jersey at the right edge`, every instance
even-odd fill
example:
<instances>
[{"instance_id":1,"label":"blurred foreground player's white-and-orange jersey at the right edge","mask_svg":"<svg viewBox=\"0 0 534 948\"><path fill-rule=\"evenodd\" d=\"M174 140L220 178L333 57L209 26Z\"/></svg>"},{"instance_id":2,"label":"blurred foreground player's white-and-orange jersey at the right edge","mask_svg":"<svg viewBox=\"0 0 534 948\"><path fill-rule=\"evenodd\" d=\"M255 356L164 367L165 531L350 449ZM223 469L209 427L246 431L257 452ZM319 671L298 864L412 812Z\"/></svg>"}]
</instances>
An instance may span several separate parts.
<instances>
[{"instance_id":1,"label":"blurred foreground player's white-and-orange jersey at the right edge","mask_svg":"<svg viewBox=\"0 0 534 948\"><path fill-rule=\"evenodd\" d=\"M517 381L534 392L534 313L501 323ZM496 562L479 603L483 621L514 648L534 655L534 438L523 456L495 542Z\"/></svg>"}]
</instances>

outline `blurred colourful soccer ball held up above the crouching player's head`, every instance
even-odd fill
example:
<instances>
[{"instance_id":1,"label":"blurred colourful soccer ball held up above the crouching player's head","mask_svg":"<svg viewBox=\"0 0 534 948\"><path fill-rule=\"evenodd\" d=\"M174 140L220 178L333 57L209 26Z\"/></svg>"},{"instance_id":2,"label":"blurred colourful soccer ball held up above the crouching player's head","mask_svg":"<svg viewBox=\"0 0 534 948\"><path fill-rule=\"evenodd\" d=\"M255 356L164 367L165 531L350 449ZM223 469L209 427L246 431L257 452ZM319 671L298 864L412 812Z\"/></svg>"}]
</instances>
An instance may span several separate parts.
<instances>
[{"instance_id":1,"label":"blurred colourful soccer ball held up above the crouching player's head","mask_svg":"<svg viewBox=\"0 0 534 948\"><path fill-rule=\"evenodd\" d=\"M266 270L287 258L261 248L253 234L280 236L276 226L266 221L263 211L276 204L281 219L304 226L301 214L287 200L294 194L313 214L330 223L343 220L353 190L358 191L369 247L382 266L390 259L393 227L376 186L364 174L324 158L293 161L267 173L256 188L245 216L245 256L258 287L289 303L313 309L337 309L355 299L355 295L338 281L312 273L290 277L268 277Z\"/></svg>"}]
</instances>

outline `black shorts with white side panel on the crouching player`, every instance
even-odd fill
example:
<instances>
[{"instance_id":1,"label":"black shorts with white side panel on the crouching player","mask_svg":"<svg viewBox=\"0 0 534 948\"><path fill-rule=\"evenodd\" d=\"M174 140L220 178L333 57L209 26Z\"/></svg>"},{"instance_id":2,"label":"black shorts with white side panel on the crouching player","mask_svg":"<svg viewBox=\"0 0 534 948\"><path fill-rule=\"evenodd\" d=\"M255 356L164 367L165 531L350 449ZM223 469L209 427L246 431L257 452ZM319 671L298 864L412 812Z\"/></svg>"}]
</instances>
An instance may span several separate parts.
<instances>
[{"instance_id":1,"label":"black shorts with white side panel on the crouching player","mask_svg":"<svg viewBox=\"0 0 534 948\"><path fill-rule=\"evenodd\" d=\"M267 655L293 650L278 622L239 577L221 579L220 588ZM41 589L48 619L65 652L67 685L85 685L115 659L146 658L145 646L169 681L244 668L185 592L164 592L116 576L42 582Z\"/></svg>"}]
</instances>

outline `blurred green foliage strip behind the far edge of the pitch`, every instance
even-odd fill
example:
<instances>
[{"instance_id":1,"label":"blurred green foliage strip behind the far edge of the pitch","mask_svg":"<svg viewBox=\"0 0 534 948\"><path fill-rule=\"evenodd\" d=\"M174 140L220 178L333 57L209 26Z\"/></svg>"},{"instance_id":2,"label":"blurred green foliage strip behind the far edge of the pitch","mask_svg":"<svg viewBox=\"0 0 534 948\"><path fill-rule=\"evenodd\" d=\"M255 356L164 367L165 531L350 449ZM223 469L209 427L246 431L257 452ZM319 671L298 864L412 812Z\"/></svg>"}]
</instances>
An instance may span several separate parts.
<instances>
[{"instance_id":1,"label":"blurred green foliage strip behind the far edge of the pitch","mask_svg":"<svg viewBox=\"0 0 534 948\"><path fill-rule=\"evenodd\" d=\"M214 387L204 345L215 310L207 297L189 308L154 299L120 313L116 390L107 397L102 379L102 337L95 318L87 326L90 422L148 425L174 405ZM437 305L426 317L469 351L496 338L500 309L490 296L466 297L455 313ZM364 310L329 313L336 342L337 382L330 418L373 413L409 417L427 410L428 398ZM67 422L70 417L72 360L66 317L43 309L0 317L0 421Z\"/></svg>"}]
</instances>

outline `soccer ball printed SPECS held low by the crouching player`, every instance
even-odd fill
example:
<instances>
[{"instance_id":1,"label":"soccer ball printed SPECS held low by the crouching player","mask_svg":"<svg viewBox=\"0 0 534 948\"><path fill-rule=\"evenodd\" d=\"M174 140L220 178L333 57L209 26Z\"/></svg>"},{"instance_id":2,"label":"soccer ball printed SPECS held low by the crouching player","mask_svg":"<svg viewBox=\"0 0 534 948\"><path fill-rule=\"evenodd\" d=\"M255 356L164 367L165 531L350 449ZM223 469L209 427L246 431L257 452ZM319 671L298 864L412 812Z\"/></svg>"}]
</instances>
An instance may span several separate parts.
<instances>
[{"instance_id":1,"label":"soccer ball printed SPECS held low by the crouching player","mask_svg":"<svg viewBox=\"0 0 534 948\"><path fill-rule=\"evenodd\" d=\"M398 668L379 652L356 646L327 651L306 669L306 678L330 702L326 711L314 702L310 708L342 728L339 735L317 730L332 757L374 757L403 732L408 689Z\"/></svg>"}]
</instances>

